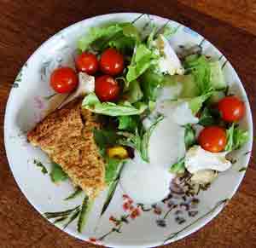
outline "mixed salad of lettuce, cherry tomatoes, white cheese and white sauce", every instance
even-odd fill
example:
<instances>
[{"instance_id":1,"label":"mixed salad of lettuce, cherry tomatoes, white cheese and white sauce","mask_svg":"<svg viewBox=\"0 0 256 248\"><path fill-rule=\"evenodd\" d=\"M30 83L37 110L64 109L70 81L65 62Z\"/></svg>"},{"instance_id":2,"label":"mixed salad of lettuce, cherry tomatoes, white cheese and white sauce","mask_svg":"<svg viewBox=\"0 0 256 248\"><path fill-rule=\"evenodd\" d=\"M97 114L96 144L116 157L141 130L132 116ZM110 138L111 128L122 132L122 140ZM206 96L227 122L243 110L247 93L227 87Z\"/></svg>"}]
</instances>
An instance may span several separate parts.
<instances>
[{"instance_id":1,"label":"mixed salad of lettuce, cherry tomatoes, white cheese and white sauce","mask_svg":"<svg viewBox=\"0 0 256 248\"><path fill-rule=\"evenodd\" d=\"M75 69L51 73L61 107L83 97L100 126L91 131L105 162L102 214L119 182L146 205L165 199L173 180L190 195L207 189L248 140L239 126L245 104L229 91L220 62L200 45L173 48L174 32L152 24L145 34L128 22L92 27L79 38ZM53 178L55 171L64 173L58 164Z\"/></svg>"}]
</instances>

